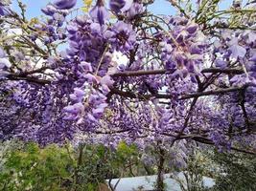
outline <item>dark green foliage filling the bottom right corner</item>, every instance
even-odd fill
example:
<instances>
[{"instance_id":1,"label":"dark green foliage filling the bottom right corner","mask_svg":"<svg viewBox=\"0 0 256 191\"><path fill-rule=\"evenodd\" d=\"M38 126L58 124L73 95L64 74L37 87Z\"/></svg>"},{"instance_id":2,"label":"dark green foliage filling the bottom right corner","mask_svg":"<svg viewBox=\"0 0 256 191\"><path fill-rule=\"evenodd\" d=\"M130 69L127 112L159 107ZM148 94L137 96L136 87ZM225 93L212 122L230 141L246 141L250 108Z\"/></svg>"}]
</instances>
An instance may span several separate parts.
<instances>
[{"instance_id":1,"label":"dark green foliage filling the bottom right corner","mask_svg":"<svg viewBox=\"0 0 256 191\"><path fill-rule=\"evenodd\" d=\"M173 178L184 191L252 191L255 190L255 158L234 152L220 153L217 150L193 148L183 168L184 178ZM203 186L203 177L212 178L215 185Z\"/></svg>"}]
</instances>

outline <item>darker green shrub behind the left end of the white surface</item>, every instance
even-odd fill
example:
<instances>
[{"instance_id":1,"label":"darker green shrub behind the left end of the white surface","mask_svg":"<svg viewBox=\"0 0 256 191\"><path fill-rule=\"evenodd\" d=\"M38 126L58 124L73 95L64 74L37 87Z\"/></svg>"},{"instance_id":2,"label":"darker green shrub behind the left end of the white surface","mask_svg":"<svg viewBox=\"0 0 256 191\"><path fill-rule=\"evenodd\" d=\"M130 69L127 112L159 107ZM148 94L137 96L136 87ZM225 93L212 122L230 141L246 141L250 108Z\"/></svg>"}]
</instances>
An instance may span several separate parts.
<instances>
[{"instance_id":1,"label":"darker green shrub behind the left end of the white surface","mask_svg":"<svg viewBox=\"0 0 256 191\"><path fill-rule=\"evenodd\" d=\"M82 150L78 184L97 185L106 179L135 176L132 168L139 168L139 154L136 146L128 146L125 142L121 142L116 150L108 149L104 145L84 145ZM83 187L83 189L88 188Z\"/></svg>"}]
</instances>

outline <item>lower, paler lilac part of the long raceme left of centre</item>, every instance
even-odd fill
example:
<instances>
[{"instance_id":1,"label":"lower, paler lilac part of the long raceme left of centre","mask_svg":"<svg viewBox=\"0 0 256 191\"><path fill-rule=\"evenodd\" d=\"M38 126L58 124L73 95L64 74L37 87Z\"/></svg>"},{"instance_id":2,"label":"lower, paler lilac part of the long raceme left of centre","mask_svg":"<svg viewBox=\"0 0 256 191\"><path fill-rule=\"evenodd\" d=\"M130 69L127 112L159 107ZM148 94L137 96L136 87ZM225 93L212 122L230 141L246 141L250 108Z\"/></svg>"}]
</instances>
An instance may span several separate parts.
<instances>
[{"instance_id":1,"label":"lower, paler lilac part of the long raceme left of centre","mask_svg":"<svg viewBox=\"0 0 256 191\"><path fill-rule=\"evenodd\" d=\"M105 112L105 107L107 106L105 102L106 95L109 93L108 86L111 83L109 83L109 79L105 79L106 76L99 80L100 77L91 74L91 71L86 73L86 69L91 69L89 63L82 62L81 64L83 67L85 66L83 68L85 69L83 71L85 81L81 88L75 88L74 93L70 95L74 104L64 108L67 114L64 119L76 120L77 124L81 124L84 121L97 123ZM94 90L93 86L98 86L100 91Z\"/></svg>"}]
</instances>

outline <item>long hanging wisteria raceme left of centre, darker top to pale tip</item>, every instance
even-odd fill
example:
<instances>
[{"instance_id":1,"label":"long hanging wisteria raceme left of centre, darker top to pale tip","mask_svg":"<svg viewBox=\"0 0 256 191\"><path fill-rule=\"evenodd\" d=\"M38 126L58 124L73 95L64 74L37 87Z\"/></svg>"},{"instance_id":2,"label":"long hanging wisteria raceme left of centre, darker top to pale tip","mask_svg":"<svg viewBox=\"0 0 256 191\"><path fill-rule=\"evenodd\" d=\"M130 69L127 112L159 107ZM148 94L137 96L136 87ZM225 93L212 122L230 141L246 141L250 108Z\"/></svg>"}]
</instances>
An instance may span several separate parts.
<instances>
[{"instance_id":1,"label":"long hanging wisteria raceme left of centre, darker top to pale tip","mask_svg":"<svg viewBox=\"0 0 256 191\"><path fill-rule=\"evenodd\" d=\"M73 121L81 129L93 130L105 113L107 94L114 81L107 74L111 62L107 42L94 20L78 16L67 26L69 48L65 68L70 68L74 80L74 93L69 95L69 105L63 111L64 119ZM97 22L97 21L96 21ZM79 59L79 61L78 61ZM77 78L77 79L75 79ZM83 124L90 124L84 126Z\"/></svg>"}]
</instances>

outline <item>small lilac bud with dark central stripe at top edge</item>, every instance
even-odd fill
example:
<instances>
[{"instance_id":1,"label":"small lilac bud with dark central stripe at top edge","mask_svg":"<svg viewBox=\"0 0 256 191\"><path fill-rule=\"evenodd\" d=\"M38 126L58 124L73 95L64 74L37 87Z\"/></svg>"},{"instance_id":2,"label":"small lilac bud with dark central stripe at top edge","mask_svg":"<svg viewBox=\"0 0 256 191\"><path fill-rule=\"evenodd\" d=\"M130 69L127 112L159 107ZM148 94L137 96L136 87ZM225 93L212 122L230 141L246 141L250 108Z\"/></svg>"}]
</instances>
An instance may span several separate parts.
<instances>
[{"instance_id":1,"label":"small lilac bud with dark central stripe at top edge","mask_svg":"<svg viewBox=\"0 0 256 191\"><path fill-rule=\"evenodd\" d=\"M109 18L109 13L105 9L104 0L98 0L95 7L89 12L93 21L100 23L100 25L105 24L105 20Z\"/></svg>"}]
</instances>

